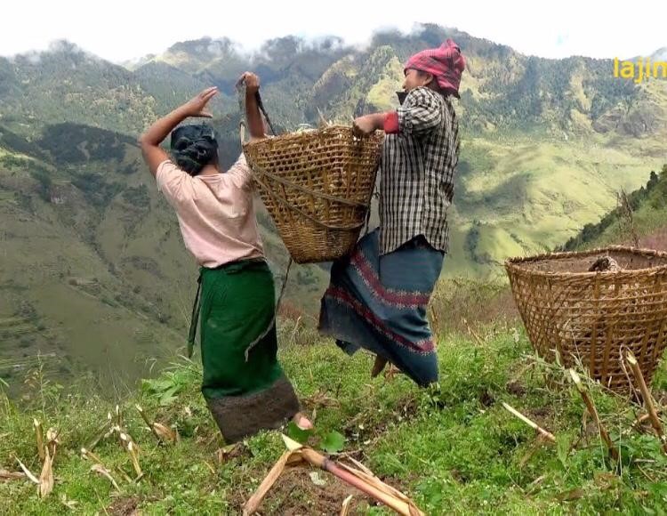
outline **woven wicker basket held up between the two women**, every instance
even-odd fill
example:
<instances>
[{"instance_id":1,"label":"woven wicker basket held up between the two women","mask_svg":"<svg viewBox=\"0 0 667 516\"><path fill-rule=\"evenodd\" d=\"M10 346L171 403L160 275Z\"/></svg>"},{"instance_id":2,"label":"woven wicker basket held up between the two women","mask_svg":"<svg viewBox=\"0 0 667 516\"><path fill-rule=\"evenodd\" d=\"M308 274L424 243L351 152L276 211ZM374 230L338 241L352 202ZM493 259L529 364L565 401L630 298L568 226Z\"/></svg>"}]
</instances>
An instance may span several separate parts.
<instances>
[{"instance_id":1,"label":"woven wicker basket held up between the two women","mask_svg":"<svg viewBox=\"0 0 667 516\"><path fill-rule=\"evenodd\" d=\"M261 200L294 262L350 253L373 195L382 133L358 140L332 125L245 143Z\"/></svg>"}]
</instances>

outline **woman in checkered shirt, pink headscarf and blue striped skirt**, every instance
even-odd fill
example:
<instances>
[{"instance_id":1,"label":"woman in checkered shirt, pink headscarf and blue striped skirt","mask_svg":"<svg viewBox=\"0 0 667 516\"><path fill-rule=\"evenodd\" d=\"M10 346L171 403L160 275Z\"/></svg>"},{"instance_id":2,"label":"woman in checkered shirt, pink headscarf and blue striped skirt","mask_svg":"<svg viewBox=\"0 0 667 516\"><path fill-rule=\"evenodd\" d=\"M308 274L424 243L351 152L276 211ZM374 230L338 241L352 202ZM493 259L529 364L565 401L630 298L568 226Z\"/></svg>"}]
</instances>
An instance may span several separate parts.
<instances>
[{"instance_id":1,"label":"woman in checkered shirt, pink headscarf and blue striped skirt","mask_svg":"<svg viewBox=\"0 0 667 516\"><path fill-rule=\"evenodd\" d=\"M375 354L373 375L389 361L425 386L438 381L426 318L448 250L447 208L454 194L459 97L465 60L451 39L406 63L401 106L358 117L358 135L384 130L380 227L335 262L322 298L319 330L349 354Z\"/></svg>"}]
</instances>

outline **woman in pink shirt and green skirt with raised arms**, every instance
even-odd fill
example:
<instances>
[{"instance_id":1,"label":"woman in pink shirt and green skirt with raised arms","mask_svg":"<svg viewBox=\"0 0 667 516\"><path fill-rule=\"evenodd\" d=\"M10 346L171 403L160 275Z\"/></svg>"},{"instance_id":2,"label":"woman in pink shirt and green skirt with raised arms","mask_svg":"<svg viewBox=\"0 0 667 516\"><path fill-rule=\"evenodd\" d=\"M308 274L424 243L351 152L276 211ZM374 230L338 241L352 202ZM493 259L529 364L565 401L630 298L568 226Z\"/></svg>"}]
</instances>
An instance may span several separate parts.
<instances>
[{"instance_id":1,"label":"woman in pink shirt and green skirt with raised arms","mask_svg":"<svg viewBox=\"0 0 667 516\"><path fill-rule=\"evenodd\" d=\"M259 78L245 73L246 117L251 136L263 138L255 93ZM181 125L188 117L211 117L208 88L174 109L139 142L157 188L175 208L183 242L200 265L189 355L200 318L202 393L229 442L289 418L312 425L299 412L292 384L277 361L275 291L253 208L252 171L243 154L229 171L218 164L218 142L205 124ZM160 143L171 133L170 157ZM201 296L199 295L201 294Z\"/></svg>"}]
</instances>

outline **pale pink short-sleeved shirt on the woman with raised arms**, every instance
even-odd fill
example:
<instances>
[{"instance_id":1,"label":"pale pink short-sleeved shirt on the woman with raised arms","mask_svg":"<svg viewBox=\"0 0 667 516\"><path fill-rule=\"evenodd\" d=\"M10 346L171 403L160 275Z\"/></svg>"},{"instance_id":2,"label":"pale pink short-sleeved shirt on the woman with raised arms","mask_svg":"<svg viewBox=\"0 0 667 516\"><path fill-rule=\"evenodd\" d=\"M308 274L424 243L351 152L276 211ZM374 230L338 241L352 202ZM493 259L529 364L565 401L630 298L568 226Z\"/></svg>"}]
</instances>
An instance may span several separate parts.
<instances>
[{"instance_id":1,"label":"pale pink short-sleeved shirt on the woman with raised arms","mask_svg":"<svg viewBox=\"0 0 667 516\"><path fill-rule=\"evenodd\" d=\"M170 160L157 166L157 189L176 209L183 242L204 267L264 255L245 156L226 173L191 176Z\"/></svg>"}]
</instances>

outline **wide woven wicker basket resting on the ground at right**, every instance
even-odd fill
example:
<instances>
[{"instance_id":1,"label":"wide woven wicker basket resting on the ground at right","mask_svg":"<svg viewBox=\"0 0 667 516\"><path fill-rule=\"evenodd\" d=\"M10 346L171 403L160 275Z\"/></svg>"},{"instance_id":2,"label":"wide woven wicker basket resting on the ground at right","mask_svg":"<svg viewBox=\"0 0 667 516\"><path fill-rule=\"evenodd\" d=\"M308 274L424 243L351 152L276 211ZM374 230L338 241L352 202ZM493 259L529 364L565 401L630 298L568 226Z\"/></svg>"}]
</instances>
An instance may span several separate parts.
<instances>
[{"instance_id":1,"label":"wide woven wicker basket resting on the ground at right","mask_svg":"<svg viewBox=\"0 0 667 516\"><path fill-rule=\"evenodd\" d=\"M589 271L600 256L620 270ZM615 246L513 258L505 268L542 357L554 360L557 351L565 367L581 361L592 378L626 392L621 357L632 351L650 383L667 344L667 254Z\"/></svg>"}]
</instances>

